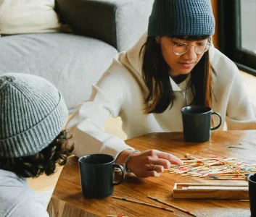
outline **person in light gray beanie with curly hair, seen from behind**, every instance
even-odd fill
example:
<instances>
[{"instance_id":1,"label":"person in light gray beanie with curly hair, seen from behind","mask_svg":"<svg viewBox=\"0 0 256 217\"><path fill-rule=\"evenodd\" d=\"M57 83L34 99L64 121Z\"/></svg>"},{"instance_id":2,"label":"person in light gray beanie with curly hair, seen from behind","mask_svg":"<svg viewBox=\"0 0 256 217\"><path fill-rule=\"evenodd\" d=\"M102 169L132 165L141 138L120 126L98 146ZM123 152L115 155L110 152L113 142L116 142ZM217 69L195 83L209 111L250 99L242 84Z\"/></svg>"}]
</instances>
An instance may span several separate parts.
<instances>
[{"instance_id":1,"label":"person in light gray beanie with curly hair, seen from behind","mask_svg":"<svg viewBox=\"0 0 256 217\"><path fill-rule=\"evenodd\" d=\"M0 111L0 216L49 216L26 178L53 174L73 152L62 95L42 77L4 74Z\"/></svg>"}]
</instances>

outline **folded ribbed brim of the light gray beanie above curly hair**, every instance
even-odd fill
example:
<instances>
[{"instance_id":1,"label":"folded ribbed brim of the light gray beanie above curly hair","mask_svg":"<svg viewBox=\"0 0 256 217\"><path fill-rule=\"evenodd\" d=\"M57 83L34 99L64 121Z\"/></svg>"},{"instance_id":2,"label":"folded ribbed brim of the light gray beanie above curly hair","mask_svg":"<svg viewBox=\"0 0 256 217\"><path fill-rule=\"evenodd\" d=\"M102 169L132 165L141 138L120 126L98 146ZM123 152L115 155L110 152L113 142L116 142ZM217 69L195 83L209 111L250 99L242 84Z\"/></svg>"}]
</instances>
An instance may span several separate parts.
<instances>
[{"instance_id":1,"label":"folded ribbed brim of the light gray beanie above curly hair","mask_svg":"<svg viewBox=\"0 0 256 217\"><path fill-rule=\"evenodd\" d=\"M19 135L0 140L0 157L32 156L46 148L59 135L65 125L68 115L65 108L65 102L60 97L57 108L42 122Z\"/></svg>"}]
</instances>

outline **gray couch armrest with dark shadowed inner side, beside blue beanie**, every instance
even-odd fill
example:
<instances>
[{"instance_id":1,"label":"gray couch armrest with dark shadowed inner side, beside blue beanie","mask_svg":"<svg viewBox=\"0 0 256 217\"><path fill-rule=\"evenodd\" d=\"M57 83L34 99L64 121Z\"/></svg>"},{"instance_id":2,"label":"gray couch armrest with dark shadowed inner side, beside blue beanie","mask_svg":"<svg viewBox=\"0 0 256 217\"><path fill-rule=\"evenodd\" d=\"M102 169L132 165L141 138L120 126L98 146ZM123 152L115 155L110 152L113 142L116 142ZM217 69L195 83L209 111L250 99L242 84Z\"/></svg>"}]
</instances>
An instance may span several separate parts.
<instances>
[{"instance_id":1,"label":"gray couch armrest with dark shadowed inner side, beside blue beanie","mask_svg":"<svg viewBox=\"0 0 256 217\"><path fill-rule=\"evenodd\" d=\"M57 12L75 34L125 51L147 30L154 0L56 0Z\"/></svg>"}]
</instances>

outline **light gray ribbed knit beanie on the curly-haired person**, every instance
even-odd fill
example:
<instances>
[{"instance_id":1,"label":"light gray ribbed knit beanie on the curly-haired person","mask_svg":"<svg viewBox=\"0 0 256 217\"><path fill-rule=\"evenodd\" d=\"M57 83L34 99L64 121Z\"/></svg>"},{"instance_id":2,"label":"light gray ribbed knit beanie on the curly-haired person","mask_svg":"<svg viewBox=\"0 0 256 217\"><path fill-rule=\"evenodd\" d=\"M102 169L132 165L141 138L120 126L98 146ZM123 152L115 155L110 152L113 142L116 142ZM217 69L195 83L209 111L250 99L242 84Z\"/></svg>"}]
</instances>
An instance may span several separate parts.
<instances>
[{"instance_id":1,"label":"light gray ribbed knit beanie on the curly-haired person","mask_svg":"<svg viewBox=\"0 0 256 217\"><path fill-rule=\"evenodd\" d=\"M59 91L44 78L0 76L0 157L32 156L46 148L67 119Z\"/></svg>"}]
</instances>

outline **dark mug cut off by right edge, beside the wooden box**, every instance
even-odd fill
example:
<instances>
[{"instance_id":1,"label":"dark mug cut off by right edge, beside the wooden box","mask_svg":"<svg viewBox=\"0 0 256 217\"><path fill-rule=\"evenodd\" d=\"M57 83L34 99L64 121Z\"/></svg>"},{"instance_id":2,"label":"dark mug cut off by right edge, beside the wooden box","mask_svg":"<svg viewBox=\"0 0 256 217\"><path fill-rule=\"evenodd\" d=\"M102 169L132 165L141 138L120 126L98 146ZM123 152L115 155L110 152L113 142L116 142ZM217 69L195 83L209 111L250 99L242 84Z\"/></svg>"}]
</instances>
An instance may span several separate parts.
<instances>
[{"instance_id":1,"label":"dark mug cut off by right edge, beside the wooden box","mask_svg":"<svg viewBox=\"0 0 256 217\"><path fill-rule=\"evenodd\" d=\"M251 217L256 217L256 174L248 176L249 182L249 205L251 208Z\"/></svg>"}]
</instances>

